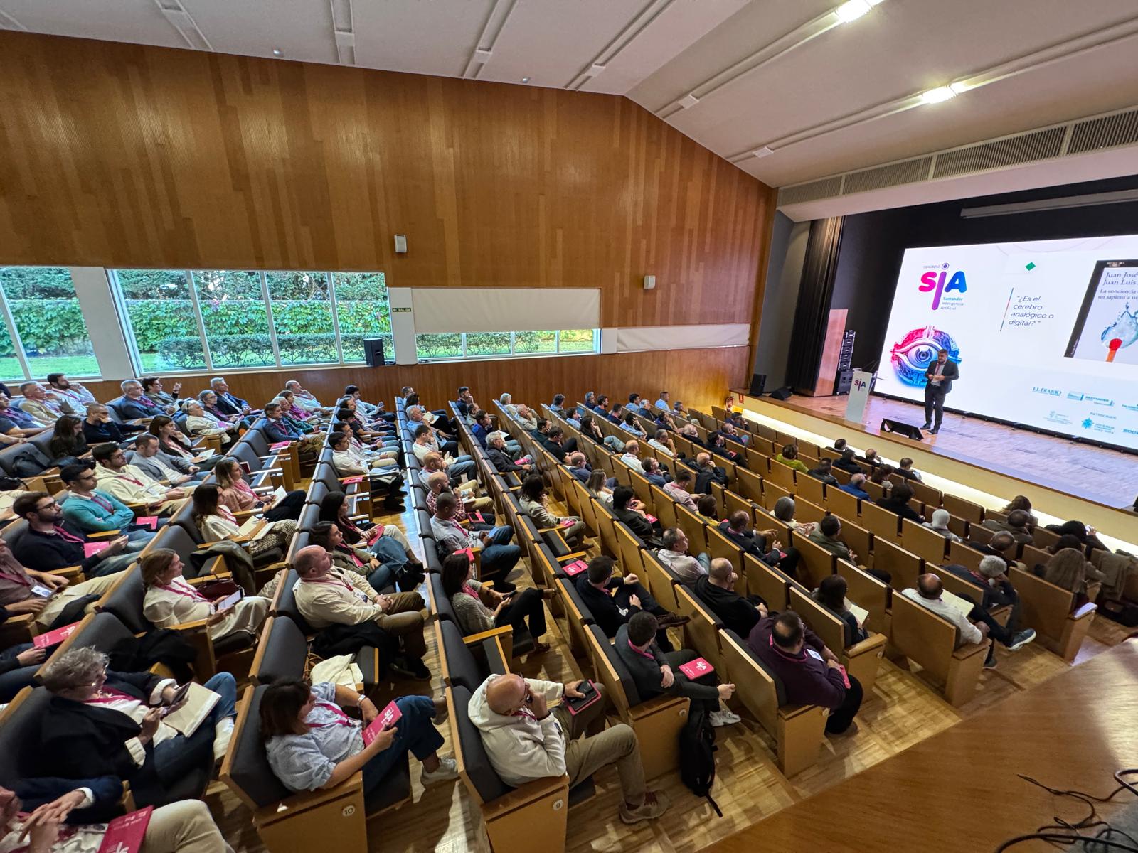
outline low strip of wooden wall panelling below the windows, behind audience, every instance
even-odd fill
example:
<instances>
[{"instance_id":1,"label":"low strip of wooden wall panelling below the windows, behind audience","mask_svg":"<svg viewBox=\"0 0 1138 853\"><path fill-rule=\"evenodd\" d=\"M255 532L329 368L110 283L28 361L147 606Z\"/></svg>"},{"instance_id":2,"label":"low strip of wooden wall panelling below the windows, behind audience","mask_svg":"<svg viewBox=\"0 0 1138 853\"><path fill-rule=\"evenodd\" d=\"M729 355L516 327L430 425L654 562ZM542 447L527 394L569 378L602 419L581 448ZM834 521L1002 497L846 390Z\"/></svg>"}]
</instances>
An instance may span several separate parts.
<instances>
[{"instance_id":1,"label":"low strip of wooden wall panelling below the windows, behind audience","mask_svg":"<svg viewBox=\"0 0 1138 853\"><path fill-rule=\"evenodd\" d=\"M709 407L723 400L726 389L735 384L748 370L747 347L711 349L670 349L663 351L619 353L615 355L545 356L538 358L503 358L471 362L430 362L415 365L368 367L362 364L329 367L282 367L256 372L217 371L226 378L234 394L254 406L261 406L284 387L290 379L330 405L346 384L357 384L364 399L384 400L394 411L394 398L403 386L412 386L432 408L453 399L459 386L470 386L479 405L488 406L503 391L518 403L549 403L554 394L572 400L583 399L586 391L608 394L613 399L627 399L633 390L655 399L661 390L671 399L683 400L694 408ZM209 376L163 376L170 390L182 383L182 396L197 395L209 386ZM98 399L109 400L122 391L118 381L83 383Z\"/></svg>"}]
</instances>

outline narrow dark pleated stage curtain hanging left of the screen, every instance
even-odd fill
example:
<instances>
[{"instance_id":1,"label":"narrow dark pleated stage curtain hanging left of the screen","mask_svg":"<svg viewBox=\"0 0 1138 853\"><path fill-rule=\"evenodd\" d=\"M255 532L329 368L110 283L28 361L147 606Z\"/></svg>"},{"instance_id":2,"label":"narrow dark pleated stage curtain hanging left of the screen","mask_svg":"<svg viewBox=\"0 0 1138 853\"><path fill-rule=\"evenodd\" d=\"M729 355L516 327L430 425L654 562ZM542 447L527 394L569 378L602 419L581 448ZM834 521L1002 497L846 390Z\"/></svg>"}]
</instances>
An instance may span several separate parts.
<instances>
[{"instance_id":1,"label":"narrow dark pleated stage curtain hanging left of the screen","mask_svg":"<svg viewBox=\"0 0 1138 853\"><path fill-rule=\"evenodd\" d=\"M818 381L841 245L841 216L810 223L786 363L786 382L793 388L813 390Z\"/></svg>"}]
</instances>

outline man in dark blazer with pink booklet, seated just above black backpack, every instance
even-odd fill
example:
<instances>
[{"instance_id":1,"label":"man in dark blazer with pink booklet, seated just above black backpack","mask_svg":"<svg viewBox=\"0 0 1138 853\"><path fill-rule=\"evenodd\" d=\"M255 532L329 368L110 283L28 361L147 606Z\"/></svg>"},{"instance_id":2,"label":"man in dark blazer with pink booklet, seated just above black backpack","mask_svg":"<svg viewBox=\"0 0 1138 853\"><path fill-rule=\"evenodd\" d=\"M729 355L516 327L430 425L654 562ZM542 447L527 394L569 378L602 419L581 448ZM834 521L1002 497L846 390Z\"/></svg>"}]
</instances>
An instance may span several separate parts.
<instances>
[{"instance_id":1,"label":"man in dark blazer with pink booklet, seated just above black backpack","mask_svg":"<svg viewBox=\"0 0 1138 853\"><path fill-rule=\"evenodd\" d=\"M719 679L709 672L698 679L688 679L679 668L700 657L699 652L682 648L663 653L657 647L655 633L659 623L645 611L633 615L617 630L612 644L625 666L628 668L641 702L657 696L686 696L692 710L702 710L714 727L733 726L743 718L727 710L726 702L735 693L735 685L718 684Z\"/></svg>"}]
</instances>

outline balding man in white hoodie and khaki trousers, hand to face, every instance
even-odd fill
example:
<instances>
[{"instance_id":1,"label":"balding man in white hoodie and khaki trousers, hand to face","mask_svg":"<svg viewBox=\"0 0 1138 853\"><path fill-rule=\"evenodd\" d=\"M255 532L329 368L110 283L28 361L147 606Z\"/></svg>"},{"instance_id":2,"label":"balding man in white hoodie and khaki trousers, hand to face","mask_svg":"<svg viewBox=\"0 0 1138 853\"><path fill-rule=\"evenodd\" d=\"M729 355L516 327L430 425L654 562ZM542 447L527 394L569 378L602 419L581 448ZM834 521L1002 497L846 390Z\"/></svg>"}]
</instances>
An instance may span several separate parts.
<instances>
[{"instance_id":1,"label":"balding man in white hoodie and khaki trousers, hand to face","mask_svg":"<svg viewBox=\"0 0 1138 853\"><path fill-rule=\"evenodd\" d=\"M636 734L620 723L604 726L604 689L599 701L576 717L564 704L550 710L562 696L579 697L580 681L555 684L518 674L490 676L470 697L470 721L483 735L483 746L495 772L506 785L569 775L569 787L601 768L616 764L624 802L620 820L653 820L668 810L662 792L648 790ZM582 737L587 730L597 734Z\"/></svg>"}]
</instances>

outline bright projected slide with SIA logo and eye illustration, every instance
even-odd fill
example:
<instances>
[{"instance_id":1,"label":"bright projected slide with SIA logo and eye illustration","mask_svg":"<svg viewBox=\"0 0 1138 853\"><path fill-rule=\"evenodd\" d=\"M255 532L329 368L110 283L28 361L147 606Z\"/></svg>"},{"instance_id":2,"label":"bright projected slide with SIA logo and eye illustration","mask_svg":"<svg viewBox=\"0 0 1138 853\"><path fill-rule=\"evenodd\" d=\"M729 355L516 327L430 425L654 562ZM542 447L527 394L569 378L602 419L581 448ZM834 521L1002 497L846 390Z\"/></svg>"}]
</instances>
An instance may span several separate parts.
<instances>
[{"instance_id":1,"label":"bright projected slide with SIA logo and eye illustration","mask_svg":"<svg viewBox=\"0 0 1138 853\"><path fill-rule=\"evenodd\" d=\"M1138 449L1138 235L906 249L875 390L941 348L946 407Z\"/></svg>"}]
</instances>

